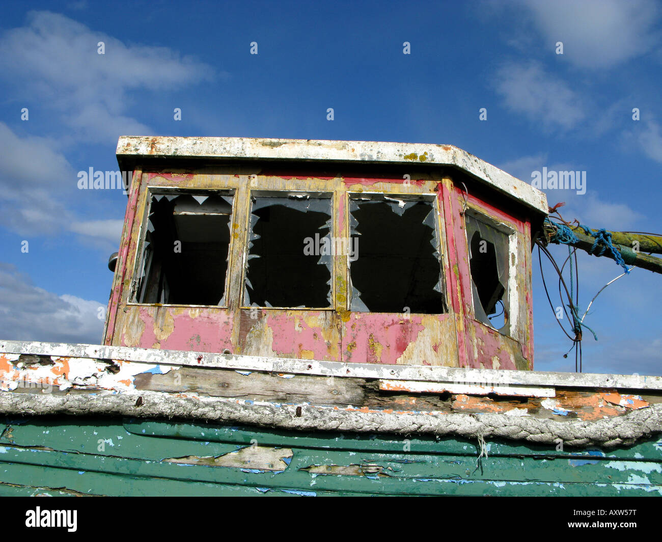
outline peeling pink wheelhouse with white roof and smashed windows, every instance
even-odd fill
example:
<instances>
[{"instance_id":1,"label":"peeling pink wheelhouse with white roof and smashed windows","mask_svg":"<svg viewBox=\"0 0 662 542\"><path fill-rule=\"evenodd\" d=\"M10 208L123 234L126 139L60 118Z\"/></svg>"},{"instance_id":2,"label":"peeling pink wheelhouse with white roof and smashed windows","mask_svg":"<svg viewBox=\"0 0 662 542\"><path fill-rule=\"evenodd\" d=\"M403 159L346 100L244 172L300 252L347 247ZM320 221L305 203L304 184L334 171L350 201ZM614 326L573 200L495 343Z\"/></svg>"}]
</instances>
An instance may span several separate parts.
<instances>
[{"instance_id":1,"label":"peeling pink wheelhouse with white roof and smashed windows","mask_svg":"<svg viewBox=\"0 0 662 542\"><path fill-rule=\"evenodd\" d=\"M107 345L532 369L544 193L448 145L122 137Z\"/></svg>"}]
</instances>

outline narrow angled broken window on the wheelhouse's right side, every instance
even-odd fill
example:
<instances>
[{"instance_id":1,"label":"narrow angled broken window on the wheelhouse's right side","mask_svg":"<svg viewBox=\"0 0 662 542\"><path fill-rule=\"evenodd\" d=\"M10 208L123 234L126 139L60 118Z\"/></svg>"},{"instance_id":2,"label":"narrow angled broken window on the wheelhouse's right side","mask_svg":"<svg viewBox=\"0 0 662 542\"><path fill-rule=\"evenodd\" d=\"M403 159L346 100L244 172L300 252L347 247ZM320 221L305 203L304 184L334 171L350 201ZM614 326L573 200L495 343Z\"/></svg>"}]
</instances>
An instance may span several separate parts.
<instances>
[{"instance_id":1,"label":"narrow angled broken window on the wheelhouse's right side","mask_svg":"<svg viewBox=\"0 0 662 542\"><path fill-rule=\"evenodd\" d=\"M476 319L507 334L509 236L472 215L465 220L473 312Z\"/></svg>"}]
</instances>

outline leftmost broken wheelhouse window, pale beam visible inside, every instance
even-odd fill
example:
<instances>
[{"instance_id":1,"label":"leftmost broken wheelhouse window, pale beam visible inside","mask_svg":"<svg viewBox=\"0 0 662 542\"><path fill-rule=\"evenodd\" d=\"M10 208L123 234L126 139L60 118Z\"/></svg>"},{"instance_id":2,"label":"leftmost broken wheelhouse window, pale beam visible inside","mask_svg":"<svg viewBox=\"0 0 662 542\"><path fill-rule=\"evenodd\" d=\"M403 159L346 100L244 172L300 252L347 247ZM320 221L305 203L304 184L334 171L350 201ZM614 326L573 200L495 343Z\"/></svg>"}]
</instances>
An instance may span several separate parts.
<instances>
[{"instance_id":1,"label":"leftmost broken wheelhouse window, pale beam visible inside","mask_svg":"<svg viewBox=\"0 0 662 542\"><path fill-rule=\"evenodd\" d=\"M224 305L232 195L152 194L138 303Z\"/></svg>"}]
</instances>

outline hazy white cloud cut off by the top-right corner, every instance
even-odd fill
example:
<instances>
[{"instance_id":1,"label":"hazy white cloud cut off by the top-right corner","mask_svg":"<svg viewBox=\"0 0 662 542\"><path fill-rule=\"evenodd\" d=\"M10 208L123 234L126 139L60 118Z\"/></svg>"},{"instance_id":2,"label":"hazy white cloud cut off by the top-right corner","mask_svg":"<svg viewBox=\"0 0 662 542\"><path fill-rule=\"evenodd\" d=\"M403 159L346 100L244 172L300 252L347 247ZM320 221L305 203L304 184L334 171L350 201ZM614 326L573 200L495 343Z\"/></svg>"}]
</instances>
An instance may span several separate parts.
<instances>
[{"instance_id":1,"label":"hazy white cloud cut off by the top-right corner","mask_svg":"<svg viewBox=\"0 0 662 542\"><path fill-rule=\"evenodd\" d=\"M652 0L522 0L553 50L563 42L563 59L596 70L649 52L659 42L660 16Z\"/></svg>"}]
</instances>

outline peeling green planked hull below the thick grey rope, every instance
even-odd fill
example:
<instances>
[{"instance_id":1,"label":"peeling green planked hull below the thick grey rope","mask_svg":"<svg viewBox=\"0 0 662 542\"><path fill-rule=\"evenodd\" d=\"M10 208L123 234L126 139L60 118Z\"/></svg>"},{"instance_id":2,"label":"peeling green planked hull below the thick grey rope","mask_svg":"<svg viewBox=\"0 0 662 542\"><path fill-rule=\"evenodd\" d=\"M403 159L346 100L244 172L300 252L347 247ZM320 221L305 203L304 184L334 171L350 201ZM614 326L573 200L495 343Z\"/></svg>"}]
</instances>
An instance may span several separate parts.
<instances>
[{"instance_id":1,"label":"peeling green planked hull below the thick grey rope","mask_svg":"<svg viewBox=\"0 0 662 542\"><path fill-rule=\"evenodd\" d=\"M3 496L662 494L659 438L610 451L489 441L488 457L478 459L475 441L452 438L143 419L5 417L0 423ZM275 470L216 466L214 457L252 445L273 457L282 454L266 466Z\"/></svg>"}]
</instances>

